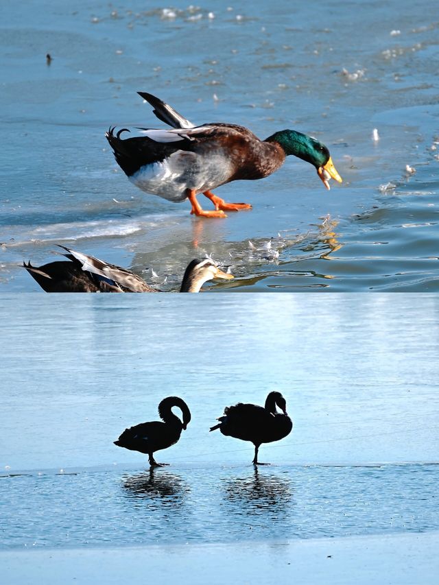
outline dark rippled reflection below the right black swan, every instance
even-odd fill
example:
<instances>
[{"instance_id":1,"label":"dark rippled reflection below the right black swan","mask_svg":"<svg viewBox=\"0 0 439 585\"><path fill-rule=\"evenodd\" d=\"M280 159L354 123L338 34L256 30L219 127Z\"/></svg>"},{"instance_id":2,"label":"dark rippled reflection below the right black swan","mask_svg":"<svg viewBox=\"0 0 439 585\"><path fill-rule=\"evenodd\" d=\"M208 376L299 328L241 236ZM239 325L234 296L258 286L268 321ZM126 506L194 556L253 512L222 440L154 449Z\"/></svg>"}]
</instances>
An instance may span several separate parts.
<instances>
[{"instance_id":1,"label":"dark rippled reflection below the right black swan","mask_svg":"<svg viewBox=\"0 0 439 585\"><path fill-rule=\"evenodd\" d=\"M285 474L286 475L286 474ZM294 506L294 485L288 477L272 475L264 469L263 473L254 467L246 477L227 479L224 485L225 505L228 514L250 516L252 529L258 526L265 531L280 535L281 525L290 524L289 516Z\"/></svg>"}]
</instances>

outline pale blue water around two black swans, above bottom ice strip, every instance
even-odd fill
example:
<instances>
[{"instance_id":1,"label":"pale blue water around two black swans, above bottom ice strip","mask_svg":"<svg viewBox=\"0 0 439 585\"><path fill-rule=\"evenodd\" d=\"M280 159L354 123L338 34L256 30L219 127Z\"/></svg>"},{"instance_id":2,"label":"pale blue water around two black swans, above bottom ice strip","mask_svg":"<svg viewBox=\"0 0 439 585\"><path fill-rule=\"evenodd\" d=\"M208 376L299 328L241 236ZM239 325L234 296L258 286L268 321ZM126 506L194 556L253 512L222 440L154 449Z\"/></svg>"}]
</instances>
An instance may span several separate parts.
<instances>
[{"instance_id":1,"label":"pale blue water around two black swans, above bottom ice strip","mask_svg":"<svg viewBox=\"0 0 439 585\"><path fill-rule=\"evenodd\" d=\"M1 301L0 547L438 529L436 295ZM294 429L255 473L209 427L274 389ZM112 442L175 394L192 420L150 474Z\"/></svg>"}]
</instances>

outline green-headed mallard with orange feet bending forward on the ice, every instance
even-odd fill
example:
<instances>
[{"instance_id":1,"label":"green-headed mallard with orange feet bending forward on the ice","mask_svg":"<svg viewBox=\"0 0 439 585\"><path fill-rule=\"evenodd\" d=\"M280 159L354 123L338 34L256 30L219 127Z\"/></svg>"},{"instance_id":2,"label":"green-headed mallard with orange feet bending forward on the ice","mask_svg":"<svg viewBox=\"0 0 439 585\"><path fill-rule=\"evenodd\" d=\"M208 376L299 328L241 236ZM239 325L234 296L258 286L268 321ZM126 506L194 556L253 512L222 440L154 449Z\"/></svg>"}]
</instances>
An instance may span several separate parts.
<instances>
[{"instance_id":1,"label":"green-headed mallard with orange feet bending forward on the ice","mask_svg":"<svg viewBox=\"0 0 439 585\"><path fill-rule=\"evenodd\" d=\"M194 126L174 108L150 93L138 92L154 108L154 114L173 130L137 128L139 136L122 139L122 128L106 132L117 163L130 181L147 193L174 202L189 199L191 213L203 217L226 217L224 211L250 209L246 203L226 203L211 189L239 179L261 179L294 154L317 169L329 189L329 179L342 182L329 150L318 140L281 130L261 141L244 126L208 123ZM205 211L196 195L203 193L215 211Z\"/></svg>"}]
</instances>

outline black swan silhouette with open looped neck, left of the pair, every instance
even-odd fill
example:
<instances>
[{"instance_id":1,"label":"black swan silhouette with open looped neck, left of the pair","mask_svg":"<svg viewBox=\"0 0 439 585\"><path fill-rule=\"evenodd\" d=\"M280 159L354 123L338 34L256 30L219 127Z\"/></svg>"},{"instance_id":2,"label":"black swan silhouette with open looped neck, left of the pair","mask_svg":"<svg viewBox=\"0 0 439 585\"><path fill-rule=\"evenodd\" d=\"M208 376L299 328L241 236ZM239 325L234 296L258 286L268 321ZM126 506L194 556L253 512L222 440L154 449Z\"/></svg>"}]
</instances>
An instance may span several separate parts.
<instances>
[{"instance_id":1,"label":"black swan silhouette with open looped neck, left of the pair","mask_svg":"<svg viewBox=\"0 0 439 585\"><path fill-rule=\"evenodd\" d=\"M172 412L172 407L178 407L183 414L181 421L178 416ZM175 445L180 439L181 431L185 431L191 420L191 411L182 398L178 396L168 396L158 405L158 415L163 420L153 420L152 422L142 422L140 425L125 429L115 445L130 449L130 451L139 451L148 455L150 466L162 466L166 463L157 463L154 459L154 453L161 449L167 449Z\"/></svg>"}]
</instances>

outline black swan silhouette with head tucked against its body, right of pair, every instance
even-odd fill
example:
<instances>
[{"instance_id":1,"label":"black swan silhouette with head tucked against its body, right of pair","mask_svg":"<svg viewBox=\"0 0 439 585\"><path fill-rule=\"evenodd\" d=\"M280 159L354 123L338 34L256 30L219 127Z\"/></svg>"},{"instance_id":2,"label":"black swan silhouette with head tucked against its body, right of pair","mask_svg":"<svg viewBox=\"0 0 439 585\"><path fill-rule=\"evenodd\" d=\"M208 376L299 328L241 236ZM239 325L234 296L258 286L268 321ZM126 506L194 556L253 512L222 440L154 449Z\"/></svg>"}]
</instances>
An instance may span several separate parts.
<instances>
[{"instance_id":1,"label":"black swan silhouette with head tucked against its body, right of pair","mask_svg":"<svg viewBox=\"0 0 439 585\"><path fill-rule=\"evenodd\" d=\"M282 413L276 411L276 405ZM217 420L219 424L211 427L211 431L219 429L223 435L254 444L254 465L264 465L258 461L261 443L281 440L293 428L293 422L287 415L287 403L281 392L270 392L264 407L242 403L228 406L224 409L224 416Z\"/></svg>"}]
</instances>

